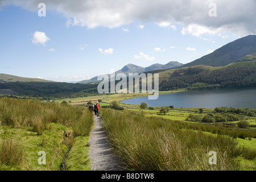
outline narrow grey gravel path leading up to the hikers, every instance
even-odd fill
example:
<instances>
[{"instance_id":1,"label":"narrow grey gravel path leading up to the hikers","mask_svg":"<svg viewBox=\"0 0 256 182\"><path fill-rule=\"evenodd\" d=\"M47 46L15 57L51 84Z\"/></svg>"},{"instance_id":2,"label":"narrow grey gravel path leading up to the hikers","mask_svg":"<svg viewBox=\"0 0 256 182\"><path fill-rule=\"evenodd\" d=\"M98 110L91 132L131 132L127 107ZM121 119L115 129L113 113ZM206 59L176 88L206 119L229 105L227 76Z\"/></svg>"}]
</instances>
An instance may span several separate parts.
<instances>
[{"instance_id":1,"label":"narrow grey gravel path leading up to the hikers","mask_svg":"<svg viewBox=\"0 0 256 182\"><path fill-rule=\"evenodd\" d=\"M94 117L94 129L90 133L89 156L92 160L92 171L123 171L125 167L113 154L107 135L101 125L101 117Z\"/></svg>"}]
</instances>

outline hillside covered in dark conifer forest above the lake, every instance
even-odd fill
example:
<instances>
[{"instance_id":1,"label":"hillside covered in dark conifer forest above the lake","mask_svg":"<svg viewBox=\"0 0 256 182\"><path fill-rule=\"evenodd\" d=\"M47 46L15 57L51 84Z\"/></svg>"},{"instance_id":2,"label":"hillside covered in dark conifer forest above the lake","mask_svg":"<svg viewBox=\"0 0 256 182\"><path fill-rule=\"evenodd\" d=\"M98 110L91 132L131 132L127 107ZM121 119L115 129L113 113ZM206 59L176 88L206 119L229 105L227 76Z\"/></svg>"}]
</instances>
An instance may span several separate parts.
<instances>
[{"instance_id":1,"label":"hillside covered in dark conifer forest above the lake","mask_svg":"<svg viewBox=\"0 0 256 182\"><path fill-rule=\"evenodd\" d=\"M256 61L238 62L224 67L196 65L160 72L160 90L217 89L256 86Z\"/></svg>"}]
</instances>

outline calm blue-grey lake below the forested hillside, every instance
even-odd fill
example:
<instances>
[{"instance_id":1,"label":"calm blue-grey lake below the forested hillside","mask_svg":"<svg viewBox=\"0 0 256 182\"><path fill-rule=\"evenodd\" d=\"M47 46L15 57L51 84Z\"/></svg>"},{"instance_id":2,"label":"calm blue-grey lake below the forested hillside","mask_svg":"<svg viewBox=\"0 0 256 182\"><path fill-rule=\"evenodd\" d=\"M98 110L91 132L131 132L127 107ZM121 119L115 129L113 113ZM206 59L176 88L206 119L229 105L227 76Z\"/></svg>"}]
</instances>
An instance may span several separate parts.
<instances>
[{"instance_id":1,"label":"calm blue-grey lake below the forested hillside","mask_svg":"<svg viewBox=\"0 0 256 182\"><path fill-rule=\"evenodd\" d=\"M256 88L191 90L161 94L157 100L148 100L148 97L138 97L122 101L122 103L134 105L139 105L141 102L146 102L150 107L173 105L179 108L202 107L214 109L215 107L228 106L256 109Z\"/></svg>"}]
</instances>

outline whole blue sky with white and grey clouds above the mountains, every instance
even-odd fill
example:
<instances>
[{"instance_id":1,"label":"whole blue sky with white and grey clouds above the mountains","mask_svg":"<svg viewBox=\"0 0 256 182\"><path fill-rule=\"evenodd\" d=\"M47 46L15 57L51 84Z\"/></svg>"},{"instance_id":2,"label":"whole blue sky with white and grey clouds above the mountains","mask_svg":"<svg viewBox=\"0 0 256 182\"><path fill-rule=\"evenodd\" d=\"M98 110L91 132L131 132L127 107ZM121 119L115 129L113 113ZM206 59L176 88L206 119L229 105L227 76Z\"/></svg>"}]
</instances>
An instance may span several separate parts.
<instances>
[{"instance_id":1,"label":"whole blue sky with white and grey clouds above the mountains","mask_svg":"<svg viewBox=\"0 0 256 182\"><path fill-rule=\"evenodd\" d=\"M256 34L255 15L254 0L0 0L0 73L71 82L190 63Z\"/></svg>"}]
</instances>

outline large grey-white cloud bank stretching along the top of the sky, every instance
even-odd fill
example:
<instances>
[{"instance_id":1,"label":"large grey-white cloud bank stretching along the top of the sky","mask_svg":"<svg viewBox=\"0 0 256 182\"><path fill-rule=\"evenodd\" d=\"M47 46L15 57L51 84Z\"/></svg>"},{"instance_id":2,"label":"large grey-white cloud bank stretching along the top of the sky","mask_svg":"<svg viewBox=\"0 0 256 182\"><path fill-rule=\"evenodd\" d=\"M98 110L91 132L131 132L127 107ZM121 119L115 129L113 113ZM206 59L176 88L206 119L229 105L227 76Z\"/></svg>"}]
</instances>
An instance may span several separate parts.
<instances>
[{"instance_id":1,"label":"large grey-white cloud bank stretching along the top of the sky","mask_svg":"<svg viewBox=\"0 0 256 182\"><path fill-rule=\"evenodd\" d=\"M38 11L41 1L1 0L0 6L14 4ZM67 26L114 28L141 20L160 27L180 23L184 27L183 34L193 36L218 32L232 32L238 36L256 34L255 0L45 0L44 3L47 11L64 15ZM216 17L209 16L210 3L216 4Z\"/></svg>"}]
</instances>

